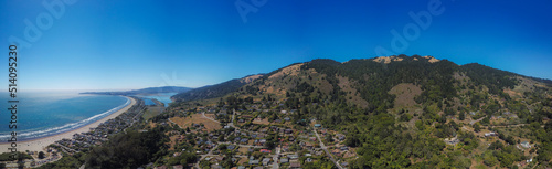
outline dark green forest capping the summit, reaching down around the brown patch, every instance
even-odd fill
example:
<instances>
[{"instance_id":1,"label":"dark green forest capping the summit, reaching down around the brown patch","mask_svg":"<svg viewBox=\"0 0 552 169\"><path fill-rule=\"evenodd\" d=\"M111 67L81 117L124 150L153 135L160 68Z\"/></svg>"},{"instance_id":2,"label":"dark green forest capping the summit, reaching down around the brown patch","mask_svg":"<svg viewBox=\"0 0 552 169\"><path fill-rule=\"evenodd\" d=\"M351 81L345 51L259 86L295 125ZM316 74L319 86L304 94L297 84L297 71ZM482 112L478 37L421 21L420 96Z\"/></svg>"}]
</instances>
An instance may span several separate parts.
<instances>
[{"instance_id":1,"label":"dark green forest capping the summit, reaching down around the brown patch","mask_svg":"<svg viewBox=\"0 0 552 169\"><path fill-rule=\"evenodd\" d=\"M439 102L457 95L453 74L459 70L458 65L446 60L429 63L414 61L414 57L405 55L397 57L403 61L383 64L372 60L351 60L341 64L331 60L314 60L305 64L304 68L315 68L327 75L326 80L333 86L331 101L339 98L340 94L337 75L357 82L353 87L369 103L369 110L383 112L392 108L394 96L388 92L400 83L413 83L422 87L424 92L416 98L418 103Z\"/></svg>"}]
</instances>

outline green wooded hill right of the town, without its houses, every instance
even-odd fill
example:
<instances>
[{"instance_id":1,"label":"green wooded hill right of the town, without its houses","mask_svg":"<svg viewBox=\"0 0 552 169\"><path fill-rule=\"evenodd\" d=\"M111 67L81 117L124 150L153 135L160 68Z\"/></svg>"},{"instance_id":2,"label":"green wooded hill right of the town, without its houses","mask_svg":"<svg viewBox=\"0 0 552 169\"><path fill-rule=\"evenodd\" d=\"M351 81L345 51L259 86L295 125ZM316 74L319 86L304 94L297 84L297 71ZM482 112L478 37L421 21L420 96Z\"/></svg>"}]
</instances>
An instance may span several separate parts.
<instances>
[{"instance_id":1,"label":"green wooded hill right of the town, without its houses","mask_svg":"<svg viewBox=\"0 0 552 169\"><path fill-rule=\"evenodd\" d=\"M397 97L402 93L390 92L397 86L411 87L402 88L402 93L421 93L412 98ZM233 95L270 98L280 103L277 108L297 109L293 117L299 125L315 118L344 131L346 144L358 148L360 158L354 160L354 168L467 168L475 157L482 157L489 167L511 167L514 161L533 157L550 162L550 150L543 149L552 145L543 135L546 128L541 127L550 126L552 118L550 86L480 64L399 55L293 64ZM408 102L412 104L397 104ZM530 123L535 123L535 128L529 136L498 127ZM481 130L500 133L501 139L495 141L505 148L487 150L484 142L490 140L478 138ZM445 148L443 139L453 137L464 146ZM523 154L514 147L527 139L542 140L542 152ZM475 149L482 154L470 154Z\"/></svg>"}]
</instances>

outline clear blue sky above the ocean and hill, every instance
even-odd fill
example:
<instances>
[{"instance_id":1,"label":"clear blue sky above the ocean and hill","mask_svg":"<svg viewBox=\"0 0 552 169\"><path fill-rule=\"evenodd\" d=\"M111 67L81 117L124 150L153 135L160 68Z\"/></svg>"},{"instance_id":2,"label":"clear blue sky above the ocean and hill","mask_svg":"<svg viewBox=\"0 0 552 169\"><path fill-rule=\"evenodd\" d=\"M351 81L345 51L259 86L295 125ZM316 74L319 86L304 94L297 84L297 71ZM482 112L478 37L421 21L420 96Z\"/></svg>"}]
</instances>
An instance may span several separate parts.
<instances>
[{"instance_id":1,"label":"clear blue sky above the ocean and hill","mask_svg":"<svg viewBox=\"0 0 552 169\"><path fill-rule=\"evenodd\" d=\"M551 7L546 0L6 0L0 74L8 78L8 46L17 40L23 91L200 87L312 59L375 57L378 46L383 54L552 78Z\"/></svg>"}]
</instances>

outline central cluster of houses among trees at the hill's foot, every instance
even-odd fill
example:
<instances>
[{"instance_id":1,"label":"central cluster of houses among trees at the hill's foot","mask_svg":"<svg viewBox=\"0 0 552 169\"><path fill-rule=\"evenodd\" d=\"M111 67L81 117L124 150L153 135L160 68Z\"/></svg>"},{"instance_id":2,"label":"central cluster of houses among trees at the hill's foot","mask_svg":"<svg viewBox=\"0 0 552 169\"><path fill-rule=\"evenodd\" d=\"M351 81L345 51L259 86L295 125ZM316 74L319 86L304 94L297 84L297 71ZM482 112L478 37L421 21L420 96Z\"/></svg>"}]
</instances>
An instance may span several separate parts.
<instances>
[{"instance_id":1,"label":"central cluster of houses among trees at the hill's foot","mask_svg":"<svg viewBox=\"0 0 552 169\"><path fill-rule=\"evenodd\" d=\"M327 129L315 118L297 125L297 109L270 108L267 104L182 106L172 108L167 120L155 125L178 126L171 131L173 156L194 152L199 159L187 165L160 165L171 168L301 168L305 163L331 162L347 168L355 150L344 146L346 135ZM193 146L192 146L193 145ZM182 148L188 147L188 148Z\"/></svg>"}]
</instances>

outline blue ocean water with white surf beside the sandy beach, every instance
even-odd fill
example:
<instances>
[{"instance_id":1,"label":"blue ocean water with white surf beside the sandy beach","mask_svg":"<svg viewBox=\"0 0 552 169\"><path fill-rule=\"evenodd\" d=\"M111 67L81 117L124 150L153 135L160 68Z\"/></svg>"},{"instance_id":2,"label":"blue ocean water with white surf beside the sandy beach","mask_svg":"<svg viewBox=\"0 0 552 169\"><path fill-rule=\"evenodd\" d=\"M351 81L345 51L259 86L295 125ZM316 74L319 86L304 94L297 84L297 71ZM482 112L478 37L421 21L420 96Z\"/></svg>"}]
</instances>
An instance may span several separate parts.
<instances>
[{"instance_id":1,"label":"blue ocean water with white surf beside the sandy beach","mask_svg":"<svg viewBox=\"0 0 552 169\"><path fill-rule=\"evenodd\" d=\"M11 103L0 93L0 141L11 137ZM18 141L47 137L102 119L130 104L121 96L81 95L78 92L18 93Z\"/></svg>"}]
</instances>

